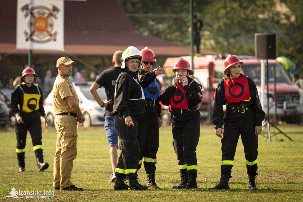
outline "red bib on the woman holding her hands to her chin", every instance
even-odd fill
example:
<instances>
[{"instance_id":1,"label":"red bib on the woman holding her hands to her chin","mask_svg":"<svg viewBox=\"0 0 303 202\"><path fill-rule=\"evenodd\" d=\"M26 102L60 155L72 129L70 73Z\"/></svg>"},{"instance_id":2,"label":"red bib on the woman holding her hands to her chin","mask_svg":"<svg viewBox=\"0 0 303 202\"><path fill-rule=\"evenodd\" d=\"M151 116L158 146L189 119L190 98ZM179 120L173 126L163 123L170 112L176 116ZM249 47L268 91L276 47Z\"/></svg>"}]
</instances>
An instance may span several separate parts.
<instances>
[{"instance_id":1,"label":"red bib on the woman holding her hands to her chin","mask_svg":"<svg viewBox=\"0 0 303 202\"><path fill-rule=\"evenodd\" d=\"M185 97L184 87L177 84L176 91L169 99L168 103L173 108L188 109L188 99Z\"/></svg>"}]
</instances>

